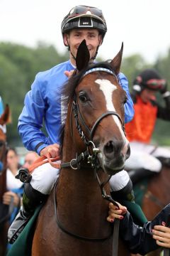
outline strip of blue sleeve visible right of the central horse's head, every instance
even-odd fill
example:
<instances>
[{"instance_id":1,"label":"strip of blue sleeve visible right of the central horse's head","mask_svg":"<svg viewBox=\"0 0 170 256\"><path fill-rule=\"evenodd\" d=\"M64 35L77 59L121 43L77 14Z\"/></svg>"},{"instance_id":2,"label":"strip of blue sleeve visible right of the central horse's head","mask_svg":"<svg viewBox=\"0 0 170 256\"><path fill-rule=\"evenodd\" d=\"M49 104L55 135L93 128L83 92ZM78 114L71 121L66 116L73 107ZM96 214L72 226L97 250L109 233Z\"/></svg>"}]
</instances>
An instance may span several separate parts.
<instances>
[{"instance_id":1,"label":"strip of blue sleeve visible right of the central horse's head","mask_svg":"<svg viewBox=\"0 0 170 256\"><path fill-rule=\"evenodd\" d=\"M125 103L125 123L128 123L132 120L134 116L134 108L133 108L133 102L130 97L129 87L128 87L128 79L123 75L123 73L119 73L118 75L120 80L120 85L122 85L123 90L125 90L128 100Z\"/></svg>"}]
</instances>

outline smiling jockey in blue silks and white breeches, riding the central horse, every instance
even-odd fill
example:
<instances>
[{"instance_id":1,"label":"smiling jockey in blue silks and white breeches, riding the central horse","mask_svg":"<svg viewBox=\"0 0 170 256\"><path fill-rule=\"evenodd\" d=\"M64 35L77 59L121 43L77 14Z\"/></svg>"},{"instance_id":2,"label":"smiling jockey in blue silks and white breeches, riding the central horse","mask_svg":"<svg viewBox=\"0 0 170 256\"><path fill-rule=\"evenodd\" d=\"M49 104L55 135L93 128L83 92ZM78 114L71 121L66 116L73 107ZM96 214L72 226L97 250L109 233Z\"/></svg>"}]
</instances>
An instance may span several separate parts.
<instances>
[{"instance_id":1,"label":"smiling jockey in blue silks and white breeches, riding the central horse","mask_svg":"<svg viewBox=\"0 0 170 256\"><path fill-rule=\"evenodd\" d=\"M40 156L50 154L51 157L56 157L59 155L60 129L64 122L62 87L76 68L75 59L79 44L86 39L90 61L93 62L96 59L98 48L103 43L107 26L100 9L91 6L75 6L64 17L61 31L64 45L69 50L69 60L36 75L31 90L26 95L25 106L18 122L18 131L23 139L23 144L28 150L36 151ZM134 109L128 89L128 80L123 73L119 74L119 80L128 96L125 103L125 122L130 122L134 115ZM41 131L43 122L47 137ZM60 170L53 168L48 163L33 171L30 183L25 184L23 207L8 231L10 242L14 241L14 236L16 239L21 233L23 223L26 223L30 215L33 214L35 206L38 206L38 203L44 201L50 194L59 174ZM111 185L114 191L126 186L125 191L131 194L132 182L126 171L111 178L111 184L116 183L117 186Z\"/></svg>"}]
</instances>

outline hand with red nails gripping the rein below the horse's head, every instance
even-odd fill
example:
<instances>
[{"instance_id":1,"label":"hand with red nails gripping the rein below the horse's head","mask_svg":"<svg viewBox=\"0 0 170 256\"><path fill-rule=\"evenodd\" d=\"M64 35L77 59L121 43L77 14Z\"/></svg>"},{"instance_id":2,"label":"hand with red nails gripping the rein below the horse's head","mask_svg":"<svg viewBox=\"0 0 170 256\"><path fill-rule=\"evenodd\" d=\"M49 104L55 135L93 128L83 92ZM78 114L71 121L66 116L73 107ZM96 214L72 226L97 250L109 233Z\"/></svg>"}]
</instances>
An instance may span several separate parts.
<instances>
[{"instance_id":1,"label":"hand with red nails gripping the rein below the horse's head","mask_svg":"<svg viewBox=\"0 0 170 256\"><path fill-rule=\"evenodd\" d=\"M117 206L114 206L113 203L109 203L109 206L108 206L109 211L108 211L108 217L107 217L108 222L113 223L115 218L118 218L120 220L123 219L123 215L127 212L127 208L125 206L120 205L120 203L118 203L118 206L119 206L119 209Z\"/></svg>"}]
</instances>

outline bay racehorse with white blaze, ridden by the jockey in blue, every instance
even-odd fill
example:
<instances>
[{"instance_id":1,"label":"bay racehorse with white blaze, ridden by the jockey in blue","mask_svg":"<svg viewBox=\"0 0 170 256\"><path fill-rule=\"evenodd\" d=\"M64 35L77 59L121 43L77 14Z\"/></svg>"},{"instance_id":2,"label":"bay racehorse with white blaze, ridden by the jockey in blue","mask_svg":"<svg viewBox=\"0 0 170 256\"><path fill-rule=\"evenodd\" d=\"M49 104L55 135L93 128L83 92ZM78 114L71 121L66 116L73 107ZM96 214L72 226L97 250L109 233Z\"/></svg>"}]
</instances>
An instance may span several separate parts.
<instances>
[{"instance_id":1,"label":"bay racehorse with white blaze, ridden by the jockey in blue","mask_svg":"<svg viewBox=\"0 0 170 256\"><path fill-rule=\"evenodd\" d=\"M113 255L103 198L110 194L107 181L130 155L124 134L127 96L118 81L122 54L123 46L111 62L89 65L86 41L79 46L79 72L62 92L67 117L60 178L38 216L32 255ZM118 255L130 252L119 244Z\"/></svg>"}]
</instances>

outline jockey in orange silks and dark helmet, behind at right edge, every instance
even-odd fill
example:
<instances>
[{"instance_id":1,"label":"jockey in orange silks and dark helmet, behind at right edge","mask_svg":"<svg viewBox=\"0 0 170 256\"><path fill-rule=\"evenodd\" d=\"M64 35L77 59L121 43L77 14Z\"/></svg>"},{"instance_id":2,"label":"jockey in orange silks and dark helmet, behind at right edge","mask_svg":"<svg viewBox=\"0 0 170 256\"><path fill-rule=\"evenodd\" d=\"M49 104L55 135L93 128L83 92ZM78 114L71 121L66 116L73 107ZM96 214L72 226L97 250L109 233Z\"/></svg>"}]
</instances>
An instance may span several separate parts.
<instances>
[{"instance_id":1,"label":"jockey in orange silks and dark helmet, behind at right edge","mask_svg":"<svg viewBox=\"0 0 170 256\"><path fill-rule=\"evenodd\" d=\"M165 107L159 104L157 92L164 99ZM150 144L157 118L170 121L170 92L166 80L154 69L142 71L134 81L132 99L135 117L125 124L130 142L130 158L125 169L130 170L130 178L136 183L142 177L159 173L162 164L170 166L170 150Z\"/></svg>"}]
</instances>

